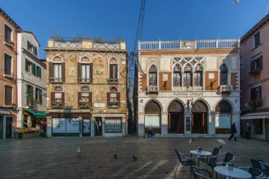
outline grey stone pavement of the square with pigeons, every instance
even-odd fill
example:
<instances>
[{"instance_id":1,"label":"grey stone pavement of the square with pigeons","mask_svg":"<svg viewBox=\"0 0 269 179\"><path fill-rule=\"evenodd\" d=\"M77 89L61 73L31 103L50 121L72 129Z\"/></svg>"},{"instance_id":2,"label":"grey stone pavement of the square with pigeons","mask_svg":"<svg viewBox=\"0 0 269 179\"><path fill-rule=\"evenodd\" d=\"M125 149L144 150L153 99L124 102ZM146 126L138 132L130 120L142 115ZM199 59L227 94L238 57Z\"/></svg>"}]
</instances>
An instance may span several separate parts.
<instances>
[{"instance_id":1,"label":"grey stone pavement of the square with pigeons","mask_svg":"<svg viewBox=\"0 0 269 179\"><path fill-rule=\"evenodd\" d=\"M178 166L174 149L188 153L198 146L207 150L219 145L222 152L235 154L235 166L251 166L249 158L269 162L268 142L258 140L36 137L0 140L0 178L174 178ZM81 154L76 154L77 147ZM188 168L180 178L192 178Z\"/></svg>"}]
</instances>

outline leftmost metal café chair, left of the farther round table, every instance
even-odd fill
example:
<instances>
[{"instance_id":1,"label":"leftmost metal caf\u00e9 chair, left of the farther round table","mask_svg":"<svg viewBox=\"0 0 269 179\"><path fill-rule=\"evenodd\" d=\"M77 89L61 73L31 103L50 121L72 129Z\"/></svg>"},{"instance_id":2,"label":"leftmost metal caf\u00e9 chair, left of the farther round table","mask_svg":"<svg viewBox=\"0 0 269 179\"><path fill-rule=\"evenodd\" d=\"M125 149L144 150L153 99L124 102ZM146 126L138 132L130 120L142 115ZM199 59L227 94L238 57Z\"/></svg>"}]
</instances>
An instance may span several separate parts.
<instances>
[{"instance_id":1,"label":"leftmost metal caf\u00e9 chair, left of the farther round table","mask_svg":"<svg viewBox=\"0 0 269 179\"><path fill-rule=\"evenodd\" d=\"M181 169L178 173L178 178L179 178L184 166L190 166L190 168L193 168L193 166L196 166L197 163L195 162L194 158L190 157L189 154L181 153L177 149L175 149L175 151L176 151L176 156L178 156L178 161L179 161L176 171L178 170L178 167L181 166ZM176 171L173 173L175 178L176 178Z\"/></svg>"}]
</instances>

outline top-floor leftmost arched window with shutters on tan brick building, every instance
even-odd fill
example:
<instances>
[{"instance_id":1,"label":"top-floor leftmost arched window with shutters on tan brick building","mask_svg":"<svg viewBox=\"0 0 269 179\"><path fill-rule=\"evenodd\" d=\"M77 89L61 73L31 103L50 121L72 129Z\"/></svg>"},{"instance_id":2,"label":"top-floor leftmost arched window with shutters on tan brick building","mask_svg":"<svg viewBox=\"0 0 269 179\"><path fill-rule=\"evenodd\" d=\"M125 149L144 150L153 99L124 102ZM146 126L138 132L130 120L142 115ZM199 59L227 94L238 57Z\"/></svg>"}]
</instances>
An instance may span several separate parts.
<instances>
[{"instance_id":1,"label":"top-floor leftmost arched window with shutters on tan brick building","mask_svg":"<svg viewBox=\"0 0 269 179\"><path fill-rule=\"evenodd\" d=\"M64 82L65 66L60 57L55 57L49 63L49 74L51 82Z\"/></svg>"}]
</instances>

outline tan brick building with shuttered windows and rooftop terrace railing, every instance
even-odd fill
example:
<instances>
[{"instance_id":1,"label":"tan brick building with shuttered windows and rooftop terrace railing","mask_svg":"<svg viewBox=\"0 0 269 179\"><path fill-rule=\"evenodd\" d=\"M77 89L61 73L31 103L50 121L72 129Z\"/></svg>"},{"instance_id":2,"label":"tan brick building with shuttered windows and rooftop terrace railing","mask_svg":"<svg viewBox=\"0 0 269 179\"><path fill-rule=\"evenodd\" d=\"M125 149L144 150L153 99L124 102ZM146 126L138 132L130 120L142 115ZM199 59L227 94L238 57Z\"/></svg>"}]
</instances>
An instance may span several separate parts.
<instances>
[{"instance_id":1,"label":"tan brick building with shuttered windows and rooftop terrace railing","mask_svg":"<svg viewBox=\"0 0 269 179\"><path fill-rule=\"evenodd\" d=\"M47 135L125 136L125 42L49 40Z\"/></svg>"}]
</instances>

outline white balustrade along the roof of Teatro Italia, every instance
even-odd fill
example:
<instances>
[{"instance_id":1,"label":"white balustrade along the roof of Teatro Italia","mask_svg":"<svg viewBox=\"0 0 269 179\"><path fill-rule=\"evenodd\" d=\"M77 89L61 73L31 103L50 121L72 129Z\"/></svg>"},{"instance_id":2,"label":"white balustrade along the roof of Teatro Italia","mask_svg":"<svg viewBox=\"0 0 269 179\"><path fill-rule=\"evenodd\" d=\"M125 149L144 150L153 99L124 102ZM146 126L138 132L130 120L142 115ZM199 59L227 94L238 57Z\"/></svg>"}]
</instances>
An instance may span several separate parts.
<instances>
[{"instance_id":1,"label":"white balustrade along the roof of Teatro Italia","mask_svg":"<svg viewBox=\"0 0 269 179\"><path fill-rule=\"evenodd\" d=\"M178 40L138 42L138 50L180 50L208 48L239 48L240 39L235 40Z\"/></svg>"}]
</instances>

